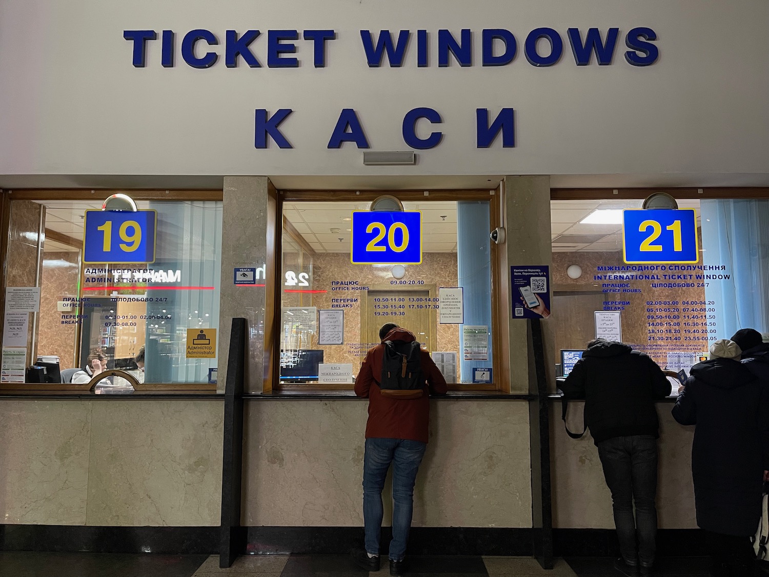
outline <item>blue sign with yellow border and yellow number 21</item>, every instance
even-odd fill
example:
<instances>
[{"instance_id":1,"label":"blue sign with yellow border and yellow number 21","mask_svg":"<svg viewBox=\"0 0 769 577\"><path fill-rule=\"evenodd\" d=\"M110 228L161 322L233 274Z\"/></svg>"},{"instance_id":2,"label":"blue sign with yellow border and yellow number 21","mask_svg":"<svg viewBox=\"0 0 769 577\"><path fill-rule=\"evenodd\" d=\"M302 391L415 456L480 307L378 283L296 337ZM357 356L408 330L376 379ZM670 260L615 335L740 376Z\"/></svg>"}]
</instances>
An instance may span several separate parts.
<instances>
[{"instance_id":1,"label":"blue sign with yellow border and yellow number 21","mask_svg":"<svg viewBox=\"0 0 769 577\"><path fill-rule=\"evenodd\" d=\"M624 262L656 265L699 261L694 208L626 208L622 220Z\"/></svg>"}]
</instances>

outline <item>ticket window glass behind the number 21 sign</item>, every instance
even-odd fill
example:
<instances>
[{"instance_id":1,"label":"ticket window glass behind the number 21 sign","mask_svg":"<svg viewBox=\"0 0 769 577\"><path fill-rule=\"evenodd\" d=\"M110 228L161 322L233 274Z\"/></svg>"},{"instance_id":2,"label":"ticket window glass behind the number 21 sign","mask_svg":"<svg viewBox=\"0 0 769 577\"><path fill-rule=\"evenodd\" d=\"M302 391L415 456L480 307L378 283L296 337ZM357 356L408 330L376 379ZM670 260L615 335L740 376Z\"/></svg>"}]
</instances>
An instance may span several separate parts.
<instances>
[{"instance_id":1,"label":"ticket window glass behind the number 21 sign","mask_svg":"<svg viewBox=\"0 0 769 577\"><path fill-rule=\"evenodd\" d=\"M622 235L623 209L641 204L551 202L552 362L560 365L561 351L584 349L601 331L687 373L711 342L737 329L769 340L769 198L678 200L695 212L697 262L643 270L624 262Z\"/></svg>"}]
</instances>

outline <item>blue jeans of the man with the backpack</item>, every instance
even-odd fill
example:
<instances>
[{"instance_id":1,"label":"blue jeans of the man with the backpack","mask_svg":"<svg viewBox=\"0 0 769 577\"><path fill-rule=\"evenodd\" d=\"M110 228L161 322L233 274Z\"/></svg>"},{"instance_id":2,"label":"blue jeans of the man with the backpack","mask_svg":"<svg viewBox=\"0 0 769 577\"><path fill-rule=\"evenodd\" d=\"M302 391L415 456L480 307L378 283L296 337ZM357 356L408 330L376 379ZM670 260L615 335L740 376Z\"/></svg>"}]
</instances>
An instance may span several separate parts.
<instances>
[{"instance_id":1,"label":"blue jeans of the man with the backpack","mask_svg":"<svg viewBox=\"0 0 769 577\"><path fill-rule=\"evenodd\" d=\"M414 512L414 482L427 444L404 439L366 439L363 458L363 520L365 547L371 555L379 555L382 526L382 489L390 463L392 468L392 541L390 559L400 561L406 555L408 531Z\"/></svg>"}]
</instances>

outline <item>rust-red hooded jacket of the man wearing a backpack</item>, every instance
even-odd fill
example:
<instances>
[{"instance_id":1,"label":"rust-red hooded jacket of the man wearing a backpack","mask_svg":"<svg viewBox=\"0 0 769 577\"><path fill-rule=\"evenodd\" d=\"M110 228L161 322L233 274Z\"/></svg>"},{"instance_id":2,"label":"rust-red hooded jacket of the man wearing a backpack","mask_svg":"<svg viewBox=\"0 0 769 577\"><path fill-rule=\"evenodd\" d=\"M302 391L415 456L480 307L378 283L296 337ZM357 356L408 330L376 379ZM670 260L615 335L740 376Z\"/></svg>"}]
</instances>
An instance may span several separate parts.
<instances>
[{"instance_id":1,"label":"rust-red hooded jacket of the man wearing a backpack","mask_svg":"<svg viewBox=\"0 0 769 577\"><path fill-rule=\"evenodd\" d=\"M406 329L392 329L384 335L384 341L414 342L414 333ZM430 353L421 351L421 369L426 380L424 394L418 399L391 399L381 394L377 380L382 372L384 344L376 345L366 354L361 370L355 379L355 394L368 397L368 422L366 439L408 439L428 442L430 418L429 393L443 394L447 390L446 379L433 362Z\"/></svg>"}]
</instances>

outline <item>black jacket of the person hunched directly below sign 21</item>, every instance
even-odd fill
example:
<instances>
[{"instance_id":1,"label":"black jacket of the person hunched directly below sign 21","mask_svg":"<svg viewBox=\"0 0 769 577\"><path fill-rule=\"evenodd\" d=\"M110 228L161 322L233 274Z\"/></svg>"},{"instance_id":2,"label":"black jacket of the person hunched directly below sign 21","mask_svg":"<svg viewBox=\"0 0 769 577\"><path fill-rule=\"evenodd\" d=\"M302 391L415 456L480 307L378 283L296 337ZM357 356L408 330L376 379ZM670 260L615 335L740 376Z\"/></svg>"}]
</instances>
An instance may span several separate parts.
<instances>
[{"instance_id":1,"label":"black jacket of the person hunched directly below sign 21","mask_svg":"<svg viewBox=\"0 0 769 577\"><path fill-rule=\"evenodd\" d=\"M622 342L601 342L586 350L561 390L585 399L584 420L596 444L614 437L659 436L654 401L671 394L656 362Z\"/></svg>"}]
</instances>

